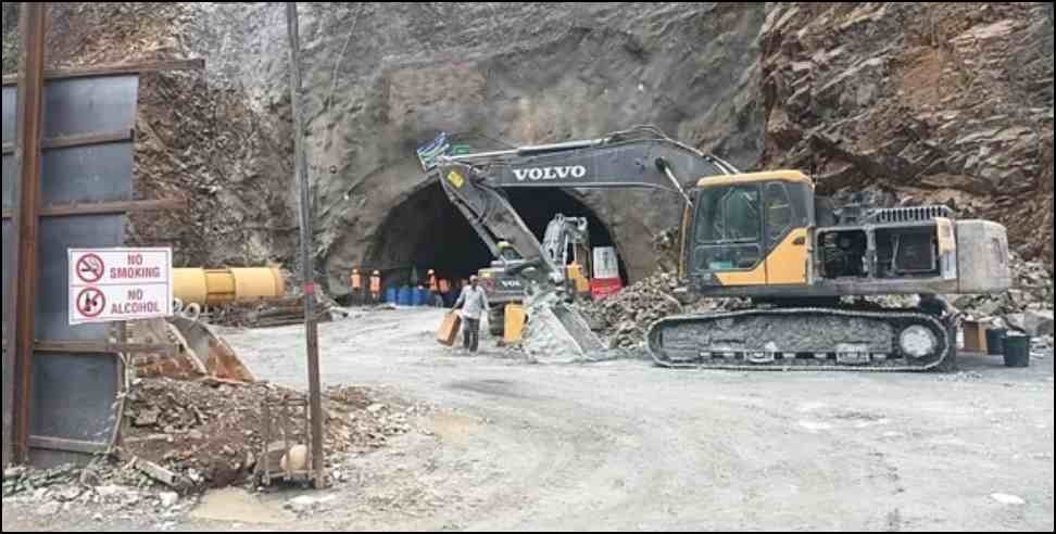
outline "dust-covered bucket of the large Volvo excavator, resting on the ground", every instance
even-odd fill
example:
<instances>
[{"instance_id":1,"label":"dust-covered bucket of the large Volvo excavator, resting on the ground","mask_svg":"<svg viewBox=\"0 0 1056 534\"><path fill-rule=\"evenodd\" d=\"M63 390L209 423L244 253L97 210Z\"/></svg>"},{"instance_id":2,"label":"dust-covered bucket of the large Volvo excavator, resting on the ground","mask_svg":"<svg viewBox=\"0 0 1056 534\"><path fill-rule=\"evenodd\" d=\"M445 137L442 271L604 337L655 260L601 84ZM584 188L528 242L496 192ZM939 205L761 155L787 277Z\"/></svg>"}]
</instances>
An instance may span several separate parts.
<instances>
[{"instance_id":1,"label":"dust-covered bucket of the large Volvo excavator, resting on the ground","mask_svg":"<svg viewBox=\"0 0 1056 534\"><path fill-rule=\"evenodd\" d=\"M612 359L605 344L579 312L554 293L530 297L523 347L539 364L580 364Z\"/></svg>"}]
</instances>

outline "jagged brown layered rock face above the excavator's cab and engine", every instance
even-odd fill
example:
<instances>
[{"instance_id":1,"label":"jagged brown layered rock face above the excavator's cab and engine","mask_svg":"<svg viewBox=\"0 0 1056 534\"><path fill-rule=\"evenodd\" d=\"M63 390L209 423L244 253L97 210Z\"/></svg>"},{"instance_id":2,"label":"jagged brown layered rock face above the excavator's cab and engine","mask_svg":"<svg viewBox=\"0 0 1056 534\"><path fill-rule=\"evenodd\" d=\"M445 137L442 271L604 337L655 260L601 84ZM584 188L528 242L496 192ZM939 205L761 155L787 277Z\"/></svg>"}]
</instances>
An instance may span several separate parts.
<instances>
[{"instance_id":1,"label":"jagged brown layered rock face above the excavator's cab and engine","mask_svg":"<svg viewBox=\"0 0 1056 534\"><path fill-rule=\"evenodd\" d=\"M1052 4L772 4L763 47L767 166L995 218L1051 257Z\"/></svg>"}]
</instances>

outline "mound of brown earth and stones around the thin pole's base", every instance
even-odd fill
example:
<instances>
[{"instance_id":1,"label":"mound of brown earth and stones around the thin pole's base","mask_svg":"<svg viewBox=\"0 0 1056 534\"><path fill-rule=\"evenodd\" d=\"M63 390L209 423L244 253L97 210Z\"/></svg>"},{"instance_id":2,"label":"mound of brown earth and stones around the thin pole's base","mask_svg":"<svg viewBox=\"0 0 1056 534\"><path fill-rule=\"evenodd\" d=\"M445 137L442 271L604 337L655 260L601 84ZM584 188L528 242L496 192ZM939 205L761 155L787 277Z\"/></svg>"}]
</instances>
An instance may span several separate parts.
<instances>
[{"instance_id":1,"label":"mound of brown earth and stones around the thin pole's base","mask_svg":"<svg viewBox=\"0 0 1056 534\"><path fill-rule=\"evenodd\" d=\"M120 457L155 465L196 488L243 483L263 452L265 398L300 395L266 383L144 380L126 398ZM389 436L410 431L407 417L417 409L390 412L370 400L370 392L354 387L326 392L325 408L328 457L384 446ZM291 429L304 428L298 414Z\"/></svg>"}]
</instances>

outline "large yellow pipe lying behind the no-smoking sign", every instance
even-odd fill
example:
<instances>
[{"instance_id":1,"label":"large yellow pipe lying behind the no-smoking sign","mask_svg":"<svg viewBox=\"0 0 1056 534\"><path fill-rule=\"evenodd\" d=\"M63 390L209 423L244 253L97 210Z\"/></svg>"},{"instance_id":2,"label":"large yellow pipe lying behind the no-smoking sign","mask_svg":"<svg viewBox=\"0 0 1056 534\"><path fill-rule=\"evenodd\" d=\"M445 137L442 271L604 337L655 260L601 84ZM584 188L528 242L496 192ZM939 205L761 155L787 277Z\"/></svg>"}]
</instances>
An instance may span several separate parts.
<instances>
[{"instance_id":1,"label":"large yellow pipe lying behind the no-smoking sign","mask_svg":"<svg viewBox=\"0 0 1056 534\"><path fill-rule=\"evenodd\" d=\"M173 294L184 305L223 306L281 298L286 281L275 267L254 269L173 269Z\"/></svg>"}]
</instances>

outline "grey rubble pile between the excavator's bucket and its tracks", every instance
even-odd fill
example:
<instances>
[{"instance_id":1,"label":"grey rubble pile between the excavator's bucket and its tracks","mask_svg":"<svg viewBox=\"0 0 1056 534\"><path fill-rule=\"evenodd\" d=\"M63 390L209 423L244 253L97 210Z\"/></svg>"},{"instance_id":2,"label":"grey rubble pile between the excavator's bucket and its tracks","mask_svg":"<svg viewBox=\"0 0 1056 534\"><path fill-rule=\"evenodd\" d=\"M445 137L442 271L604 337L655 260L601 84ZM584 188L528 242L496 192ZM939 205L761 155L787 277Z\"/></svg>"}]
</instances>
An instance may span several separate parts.
<instances>
[{"instance_id":1,"label":"grey rubble pile between the excavator's bucket and its tracks","mask_svg":"<svg viewBox=\"0 0 1056 534\"><path fill-rule=\"evenodd\" d=\"M741 300L702 300L681 289L676 275L659 272L617 295L579 308L591 329L611 339L612 348L633 349L645 344L650 326L665 317L743 306Z\"/></svg>"}]
</instances>

